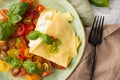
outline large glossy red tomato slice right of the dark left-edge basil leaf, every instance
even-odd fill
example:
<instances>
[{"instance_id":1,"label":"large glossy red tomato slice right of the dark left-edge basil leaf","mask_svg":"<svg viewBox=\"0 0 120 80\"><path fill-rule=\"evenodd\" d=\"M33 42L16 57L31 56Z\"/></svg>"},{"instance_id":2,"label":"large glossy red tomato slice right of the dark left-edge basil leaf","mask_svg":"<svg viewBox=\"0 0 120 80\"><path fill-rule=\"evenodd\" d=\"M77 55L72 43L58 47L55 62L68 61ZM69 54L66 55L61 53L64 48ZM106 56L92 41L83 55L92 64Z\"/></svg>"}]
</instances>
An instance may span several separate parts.
<instances>
[{"instance_id":1,"label":"large glossy red tomato slice right of the dark left-edge basil leaf","mask_svg":"<svg viewBox=\"0 0 120 80\"><path fill-rule=\"evenodd\" d=\"M22 36L25 33L25 26L22 23L18 24L18 27L14 33L15 37Z\"/></svg>"}]
</instances>

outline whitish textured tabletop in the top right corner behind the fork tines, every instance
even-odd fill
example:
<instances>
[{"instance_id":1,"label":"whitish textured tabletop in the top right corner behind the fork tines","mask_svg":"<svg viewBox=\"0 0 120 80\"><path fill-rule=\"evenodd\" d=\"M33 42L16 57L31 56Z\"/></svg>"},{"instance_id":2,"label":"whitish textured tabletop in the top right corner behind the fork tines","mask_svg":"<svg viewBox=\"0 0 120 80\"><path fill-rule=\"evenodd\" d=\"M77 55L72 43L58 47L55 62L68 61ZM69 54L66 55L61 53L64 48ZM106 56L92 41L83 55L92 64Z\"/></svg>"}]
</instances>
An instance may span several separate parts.
<instances>
[{"instance_id":1,"label":"whitish textured tabletop in the top right corner behind the fork tines","mask_svg":"<svg viewBox=\"0 0 120 80\"><path fill-rule=\"evenodd\" d=\"M110 8L94 7L94 14L104 15L105 24L120 24L120 0L110 0Z\"/></svg>"}]
</instances>

